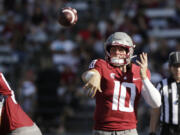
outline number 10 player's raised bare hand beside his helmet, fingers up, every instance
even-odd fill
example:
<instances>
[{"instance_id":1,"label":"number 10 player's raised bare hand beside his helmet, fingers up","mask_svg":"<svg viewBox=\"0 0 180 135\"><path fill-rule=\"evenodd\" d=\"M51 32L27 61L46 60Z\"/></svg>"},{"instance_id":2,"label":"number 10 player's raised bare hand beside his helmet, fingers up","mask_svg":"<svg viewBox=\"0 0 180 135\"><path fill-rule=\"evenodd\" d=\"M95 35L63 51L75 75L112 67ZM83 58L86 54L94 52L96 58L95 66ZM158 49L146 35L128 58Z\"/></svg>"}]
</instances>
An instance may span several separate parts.
<instances>
[{"instance_id":1,"label":"number 10 player's raised bare hand beside his helmet, fingers up","mask_svg":"<svg viewBox=\"0 0 180 135\"><path fill-rule=\"evenodd\" d=\"M148 68L148 58L147 58L147 53L142 53L140 54L140 61L136 61L139 66L141 67L141 70L140 70L140 74L141 74L141 78L142 79L145 79L147 78L147 68Z\"/></svg>"}]
</instances>

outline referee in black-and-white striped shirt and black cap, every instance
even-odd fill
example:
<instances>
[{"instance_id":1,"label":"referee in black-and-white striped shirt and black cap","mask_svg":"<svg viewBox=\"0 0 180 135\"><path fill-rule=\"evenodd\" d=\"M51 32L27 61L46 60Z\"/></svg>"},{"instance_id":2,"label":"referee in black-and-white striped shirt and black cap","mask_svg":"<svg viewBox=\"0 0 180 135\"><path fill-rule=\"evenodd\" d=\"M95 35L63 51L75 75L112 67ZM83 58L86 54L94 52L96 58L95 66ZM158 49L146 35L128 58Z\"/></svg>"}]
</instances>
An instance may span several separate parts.
<instances>
[{"instance_id":1,"label":"referee in black-and-white striped shirt and black cap","mask_svg":"<svg viewBox=\"0 0 180 135\"><path fill-rule=\"evenodd\" d=\"M162 105L153 109L150 120L150 134L156 135L160 120L160 135L180 135L180 52L169 55L170 77L157 85Z\"/></svg>"}]
</instances>

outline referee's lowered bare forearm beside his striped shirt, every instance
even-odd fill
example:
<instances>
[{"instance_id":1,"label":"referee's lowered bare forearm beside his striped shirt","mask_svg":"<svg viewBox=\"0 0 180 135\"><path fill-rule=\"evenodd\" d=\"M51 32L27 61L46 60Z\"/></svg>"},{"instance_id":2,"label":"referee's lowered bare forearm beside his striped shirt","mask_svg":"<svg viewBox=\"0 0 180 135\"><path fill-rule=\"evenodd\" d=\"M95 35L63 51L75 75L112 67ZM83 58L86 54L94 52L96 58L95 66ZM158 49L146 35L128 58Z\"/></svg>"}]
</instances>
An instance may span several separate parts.
<instances>
[{"instance_id":1,"label":"referee's lowered bare forearm beside his striped shirt","mask_svg":"<svg viewBox=\"0 0 180 135\"><path fill-rule=\"evenodd\" d=\"M160 108L151 109L149 135L156 135L156 130L159 125L159 117L160 117Z\"/></svg>"}]
</instances>

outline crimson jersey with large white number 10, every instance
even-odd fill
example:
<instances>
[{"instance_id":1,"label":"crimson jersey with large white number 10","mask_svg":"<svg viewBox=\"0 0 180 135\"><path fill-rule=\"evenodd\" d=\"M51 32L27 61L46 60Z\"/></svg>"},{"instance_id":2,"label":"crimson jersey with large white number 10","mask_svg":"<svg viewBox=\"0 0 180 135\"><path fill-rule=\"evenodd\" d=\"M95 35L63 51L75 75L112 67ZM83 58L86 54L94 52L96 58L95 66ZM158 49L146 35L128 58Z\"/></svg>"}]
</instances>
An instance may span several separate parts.
<instances>
[{"instance_id":1,"label":"crimson jersey with large white number 10","mask_svg":"<svg viewBox=\"0 0 180 135\"><path fill-rule=\"evenodd\" d=\"M95 130L136 128L137 105L141 95L140 67L132 64L126 73L102 59L91 62L90 69L101 75L102 93L96 93ZM150 78L150 71L147 71Z\"/></svg>"}]
</instances>

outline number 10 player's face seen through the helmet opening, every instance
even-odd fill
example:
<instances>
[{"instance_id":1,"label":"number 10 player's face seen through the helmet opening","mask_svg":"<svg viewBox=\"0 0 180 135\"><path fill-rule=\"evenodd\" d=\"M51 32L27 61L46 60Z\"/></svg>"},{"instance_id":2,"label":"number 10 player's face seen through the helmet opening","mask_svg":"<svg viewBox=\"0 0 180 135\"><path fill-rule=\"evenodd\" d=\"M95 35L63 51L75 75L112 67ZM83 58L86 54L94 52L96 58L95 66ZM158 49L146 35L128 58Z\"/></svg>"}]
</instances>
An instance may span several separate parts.
<instances>
[{"instance_id":1,"label":"number 10 player's face seen through the helmet opening","mask_svg":"<svg viewBox=\"0 0 180 135\"><path fill-rule=\"evenodd\" d=\"M121 46L112 46L110 49L110 55L111 57L125 58L126 50Z\"/></svg>"}]
</instances>

